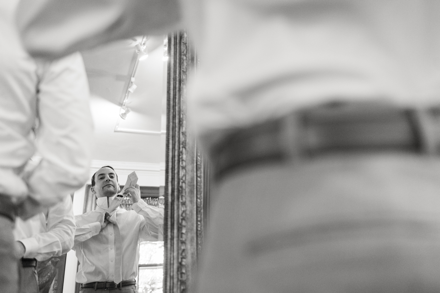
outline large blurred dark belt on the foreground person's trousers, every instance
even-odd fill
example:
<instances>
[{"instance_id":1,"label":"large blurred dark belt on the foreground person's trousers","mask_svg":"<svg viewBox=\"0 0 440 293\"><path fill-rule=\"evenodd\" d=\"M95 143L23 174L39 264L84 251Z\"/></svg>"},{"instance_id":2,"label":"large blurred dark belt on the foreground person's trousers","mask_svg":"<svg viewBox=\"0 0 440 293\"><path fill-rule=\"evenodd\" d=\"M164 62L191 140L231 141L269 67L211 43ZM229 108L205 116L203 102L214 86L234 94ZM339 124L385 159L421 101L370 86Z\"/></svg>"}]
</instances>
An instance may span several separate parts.
<instances>
[{"instance_id":1,"label":"large blurred dark belt on the foreground person's trousers","mask_svg":"<svg viewBox=\"0 0 440 293\"><path fill-rule=\"evenodd\" d=\"M440 107L380 101L334 102L229 130L209 149L216 179L240 167L329 153L403 151L438 154ZM209 141L209 134L202 137Z\"/></svg>"}]
</instances>

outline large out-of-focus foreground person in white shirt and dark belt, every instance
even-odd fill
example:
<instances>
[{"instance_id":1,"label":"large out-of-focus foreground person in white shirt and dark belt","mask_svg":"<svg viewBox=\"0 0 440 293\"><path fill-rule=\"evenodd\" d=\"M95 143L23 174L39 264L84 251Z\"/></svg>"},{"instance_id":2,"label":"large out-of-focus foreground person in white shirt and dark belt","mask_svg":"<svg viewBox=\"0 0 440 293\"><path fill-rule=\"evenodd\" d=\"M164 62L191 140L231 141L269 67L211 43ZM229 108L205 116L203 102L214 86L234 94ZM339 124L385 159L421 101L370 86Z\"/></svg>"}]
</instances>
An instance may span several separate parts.
<instances>
[{"instance_id":1,"label":"large out-of-focus foreground person in white shirt and dark belt","mask_svg":"<svg viewBox=\"0 0 440 293\"><path fill-rule=\"evenodd\" d=\"M58 46L52 6L23 22L28 49L90 45L99 21ZM217 181L198 291L440 292L439 1L181 7L188 119ZM99 15L108 36L129 14Z\"/></svg>"}]
</instances>

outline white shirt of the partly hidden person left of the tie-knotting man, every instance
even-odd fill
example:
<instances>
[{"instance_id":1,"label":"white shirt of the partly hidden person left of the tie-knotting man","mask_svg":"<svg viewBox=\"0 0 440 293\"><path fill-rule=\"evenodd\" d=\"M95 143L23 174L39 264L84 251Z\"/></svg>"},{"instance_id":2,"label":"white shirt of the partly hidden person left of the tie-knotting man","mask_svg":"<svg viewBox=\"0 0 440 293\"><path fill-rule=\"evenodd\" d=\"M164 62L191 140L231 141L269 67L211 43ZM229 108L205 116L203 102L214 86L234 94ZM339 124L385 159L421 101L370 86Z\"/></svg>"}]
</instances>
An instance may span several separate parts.
<instances>
[{"instance_id":1,"label":"white shirt of the partly hidden person left of the tie-knotting man","mask_svg":"<svg viewBox=\"0 0 440 293\"><path fill-rule=\"evenodd\" d=\"M15 221L14 237L26 248L24 257L39 261L67 253L73 247L75 216L70 196L27 221Z\"/></svg>"}]
</instances>

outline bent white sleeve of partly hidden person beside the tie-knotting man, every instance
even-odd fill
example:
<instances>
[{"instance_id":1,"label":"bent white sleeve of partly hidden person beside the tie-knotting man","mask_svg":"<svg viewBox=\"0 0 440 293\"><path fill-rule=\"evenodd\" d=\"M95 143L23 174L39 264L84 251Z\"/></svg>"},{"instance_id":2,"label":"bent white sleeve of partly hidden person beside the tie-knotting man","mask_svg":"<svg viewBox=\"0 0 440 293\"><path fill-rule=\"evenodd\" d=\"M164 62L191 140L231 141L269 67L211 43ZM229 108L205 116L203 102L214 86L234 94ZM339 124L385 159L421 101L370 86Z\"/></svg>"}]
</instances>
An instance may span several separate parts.
<instances>
[{"instance_id":1,"label":"bent white sleeve of partly hidden person beside the tie-knotting man","mask_svg":"<svg viewBox=\"0 0 440 293\"><path fill-rule=\"evenodd\" d=\"M44 224L48 232L20 240L26 248L24 257L41 261L65 254L72 248L75 217L70 196L49 208Z\"/></svg>"}]
</instances>

